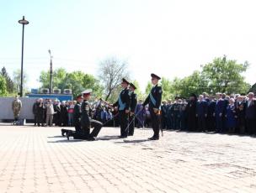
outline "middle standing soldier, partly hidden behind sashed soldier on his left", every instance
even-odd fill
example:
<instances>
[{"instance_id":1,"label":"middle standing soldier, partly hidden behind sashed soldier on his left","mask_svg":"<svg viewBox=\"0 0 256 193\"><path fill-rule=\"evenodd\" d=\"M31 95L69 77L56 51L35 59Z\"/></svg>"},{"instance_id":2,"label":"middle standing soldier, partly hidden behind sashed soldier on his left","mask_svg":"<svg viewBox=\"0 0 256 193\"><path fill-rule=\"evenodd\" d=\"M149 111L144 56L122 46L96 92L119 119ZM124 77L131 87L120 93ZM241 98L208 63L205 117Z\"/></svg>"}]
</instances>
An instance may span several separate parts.
<instances>
[{"instance_id":1,"label":"middle standing soldier, partly hidden behind sashed soldier on his left","mask_svg":"<svg viewBox=\"0 0 256 193\"><path fill-rule=\"evenodd\" d=\"M136 90L136 86L134 84L130 83L129 86L130 90L130 117L129 117L129 136L133 136L134 133L134 127L135 127L135 109L137 105L137 95L134 93Z\"/></svg>"}]
</instances>

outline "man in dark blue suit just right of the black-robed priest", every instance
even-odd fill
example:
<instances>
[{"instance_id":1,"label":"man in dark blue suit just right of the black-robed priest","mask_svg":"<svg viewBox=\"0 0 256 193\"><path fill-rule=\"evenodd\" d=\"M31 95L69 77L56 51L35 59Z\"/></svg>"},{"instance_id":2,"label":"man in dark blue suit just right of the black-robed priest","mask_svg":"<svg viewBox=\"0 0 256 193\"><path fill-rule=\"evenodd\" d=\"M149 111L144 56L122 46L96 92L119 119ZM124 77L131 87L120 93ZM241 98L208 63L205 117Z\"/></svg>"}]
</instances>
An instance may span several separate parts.
<instances>
[{"instance_id":1,"label":"man in dark blue suit just right of the black-robed priest","mask_svg":"<svg viewBox=\"0 0 256 193\"><path fill-rule=\"evenodd\" d=\"M197 130L199 132L205 131L206 117L207 117L207 102L205 102L202 95L199 96L199 100L196 102L196 115L197 117Z\"/></svg>"}]
</instances>

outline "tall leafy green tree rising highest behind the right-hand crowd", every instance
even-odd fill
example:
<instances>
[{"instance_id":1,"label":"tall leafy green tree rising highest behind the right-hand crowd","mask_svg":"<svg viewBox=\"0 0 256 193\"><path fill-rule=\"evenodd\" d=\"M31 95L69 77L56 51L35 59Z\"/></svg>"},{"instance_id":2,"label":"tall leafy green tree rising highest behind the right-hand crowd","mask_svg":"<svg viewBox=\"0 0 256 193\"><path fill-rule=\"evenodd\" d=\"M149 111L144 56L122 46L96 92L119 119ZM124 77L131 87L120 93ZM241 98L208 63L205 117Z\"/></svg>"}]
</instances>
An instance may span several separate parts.
<instances>
[{"instance_id":1,"label":"tall leafy green tree rising highest behind the right-hand crowd","mask_svg":"<svg viewBox=\"0 0 256 193\"><path fill-rule=\"evenodd\" d=\"M211 63L202 65L202 76L207 82L208 90L227 93L247 92L249 85L242 73L248 69L248 62L238 64L237 60L227 60L226 55L216 58Z\"/></svg>"}]
</instances>

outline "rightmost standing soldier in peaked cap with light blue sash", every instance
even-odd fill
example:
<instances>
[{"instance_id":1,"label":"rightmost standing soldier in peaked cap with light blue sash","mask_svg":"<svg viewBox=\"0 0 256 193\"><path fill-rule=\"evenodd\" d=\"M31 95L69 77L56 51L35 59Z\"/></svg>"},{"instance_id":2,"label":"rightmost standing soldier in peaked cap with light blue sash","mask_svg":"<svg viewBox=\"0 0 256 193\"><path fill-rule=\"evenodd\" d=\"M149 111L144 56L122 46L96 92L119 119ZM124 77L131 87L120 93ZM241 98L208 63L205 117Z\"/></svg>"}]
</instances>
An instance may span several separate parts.
<instances>
[{"instance_id":1,"label":"rightmost standing soldier in peaked cap with light blue sash","mask_svg":"<svg viewBox=\"0 0 256 193\"><path fill-rule=\"evenodd\" d=\"M160 107L161 107L163 91L162 91L162 86L158 85L158 81L161 78L155 74L151 74L151 76L152 76L153 87L142 106L145 107L147 104L149 104L149 112L152 118L152 129L154 134L152 138L149 138L149 139L158 140L159 127L160 127Z\"/></svg>"}]
</instances>

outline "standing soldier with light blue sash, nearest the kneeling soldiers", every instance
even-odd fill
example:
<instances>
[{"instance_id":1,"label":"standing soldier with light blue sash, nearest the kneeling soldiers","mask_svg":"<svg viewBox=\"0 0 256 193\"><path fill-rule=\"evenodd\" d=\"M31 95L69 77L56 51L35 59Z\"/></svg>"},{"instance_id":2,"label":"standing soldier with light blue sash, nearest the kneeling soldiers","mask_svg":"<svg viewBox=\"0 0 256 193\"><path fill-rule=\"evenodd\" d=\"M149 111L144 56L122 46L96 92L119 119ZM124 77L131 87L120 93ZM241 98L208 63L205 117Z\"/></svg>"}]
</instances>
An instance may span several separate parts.
<instances>
[{"instance_id":1,"label":"standing soldier with light blue sash, nearest the kneeling soldiers","mask_svg":"<svg viewBox=\"0 0 256 193\"><path fill-rule=\"evenodd\" d=\"M123 90L120 92L118 101L113 104L113 107L118 107L119 118L120 118L120 138L127 138L128 136L128 115L130 107L130 96L128 85L130 83L122 79L121 86Z\"/></svg>"}]
</instances>

